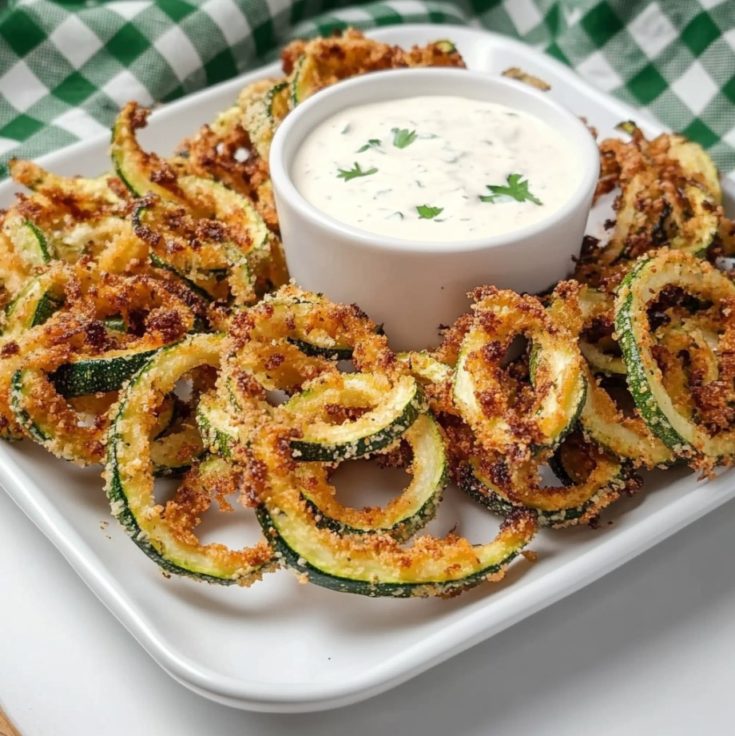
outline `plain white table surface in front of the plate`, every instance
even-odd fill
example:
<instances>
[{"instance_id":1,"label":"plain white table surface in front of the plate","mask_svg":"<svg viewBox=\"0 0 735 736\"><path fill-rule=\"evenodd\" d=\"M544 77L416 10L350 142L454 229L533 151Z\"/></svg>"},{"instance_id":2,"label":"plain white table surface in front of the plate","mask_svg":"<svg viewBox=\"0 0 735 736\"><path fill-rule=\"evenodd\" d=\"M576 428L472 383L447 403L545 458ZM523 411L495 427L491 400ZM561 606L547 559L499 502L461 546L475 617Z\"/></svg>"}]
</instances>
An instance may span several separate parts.
<instances>
[{"instance_id":1,"label":"plain white table surface in front of the plate","mask_svg":"<svg viewBox=\"0 0 735 736\"><path fill-rule=\"evenodd\" d=\"M171 680L0 492L0 707L23 736L732 733L735 502L402 687L264 715Z\"/></svg>"}]
</instances>

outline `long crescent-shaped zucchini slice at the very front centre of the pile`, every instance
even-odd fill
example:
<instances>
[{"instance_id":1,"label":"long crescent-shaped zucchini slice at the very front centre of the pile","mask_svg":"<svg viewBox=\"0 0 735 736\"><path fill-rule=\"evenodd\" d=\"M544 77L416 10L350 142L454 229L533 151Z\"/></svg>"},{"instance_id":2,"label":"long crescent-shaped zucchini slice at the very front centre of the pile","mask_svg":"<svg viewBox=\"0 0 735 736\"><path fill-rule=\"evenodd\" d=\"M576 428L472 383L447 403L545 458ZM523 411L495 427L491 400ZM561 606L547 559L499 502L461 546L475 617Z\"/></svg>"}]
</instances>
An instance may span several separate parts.
<instances>
[{"instance_id":1,"label":"long crescent-shaped zucchini slice at the very front centre of the pile","mask_svg":"<svg viewBox=\"0 0 735 736\"><path fill-rule=\"evenodd\" d=\"M262 471L257 513L266 537L286 565L331 590L394 598L451 595L501 579L536 531L533 514L521 510L487 544L450 535L420 537L403 547L385 534L340 535L318 525L299 491L318 469L294 463L281 433L261 434L254 456Z\"/></svg>"}]
</instances>

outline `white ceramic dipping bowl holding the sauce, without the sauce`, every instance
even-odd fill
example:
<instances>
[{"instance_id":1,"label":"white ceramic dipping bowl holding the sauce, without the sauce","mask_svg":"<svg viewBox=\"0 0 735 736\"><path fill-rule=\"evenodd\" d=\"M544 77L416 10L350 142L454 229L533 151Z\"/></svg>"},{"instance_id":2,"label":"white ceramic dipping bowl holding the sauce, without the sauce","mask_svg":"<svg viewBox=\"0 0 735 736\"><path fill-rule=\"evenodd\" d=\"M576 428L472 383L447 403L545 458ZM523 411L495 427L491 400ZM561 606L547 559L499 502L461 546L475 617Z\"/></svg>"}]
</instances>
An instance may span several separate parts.
<instances>
[{"instance_id":1,"label":"white ceramic dipping bowl holding the sauce, without the sauce","mask_svg":"<svg viewBox=\"0 0 735 736\"><path fill-rule=\"evenodd\" d=\"M304 199L291 167L315 126L345 108L421 95L495 102L540 118L576 149L581 162L577 189L560 209L532 225L438 243L375 235L331 218ZM437 345L439 326L467 311L467 292L475 286L533 293L568 275L584 235L599 154L578 118L527 85L464 69L405 69L340 82L299 105L276 132L270 170L291 277L334 301L359 305L384 325L395 350L408 350Z\"/></svg>"}]
</instances>

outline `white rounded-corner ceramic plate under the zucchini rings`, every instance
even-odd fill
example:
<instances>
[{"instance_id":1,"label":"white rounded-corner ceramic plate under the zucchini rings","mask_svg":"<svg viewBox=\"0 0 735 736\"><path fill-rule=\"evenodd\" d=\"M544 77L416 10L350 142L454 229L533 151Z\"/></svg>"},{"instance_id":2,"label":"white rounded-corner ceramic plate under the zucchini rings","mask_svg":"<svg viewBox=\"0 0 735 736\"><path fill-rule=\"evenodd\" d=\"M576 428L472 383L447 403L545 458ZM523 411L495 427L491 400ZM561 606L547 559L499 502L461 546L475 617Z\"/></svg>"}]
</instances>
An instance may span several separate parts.
<instances>
[{"instance_id":1,"label":"white rounded-corner ceramic plate under the zucchini rings","mask_svg":"<svg viewBox=\"0 0 735 736\"><path fill-rule=\"evenodd\" d=\"M498 74L510 66L538 75L549 92L582 115L602 136L634 118L649 134L660 126L596 91L573 71L523 44L468 28L396 26L373 34L411 45L451 38L469 67ZM143 143L169 152L181 138L231 104L246 83L277 75L271 65L167 105L151 117ZM41 163L65 174L109 169L108 138L84 141ZM727 206L735 186L725 182ZM0 185L0 206L14 185ZM352 476L348 478L347 476ZM218 588L164 579L109 516L96 470L55 460L30 443L0 444L0 482L56 545L92 591L172 677L205 697L238 708L299 712L353 703L419 674L605 575L735 496L735 476L707 483L681 470L647 479L645 491L616 504L599 529L539 534L538 561L516 562L499 585L451 600L383 600L299 585L285 571L252 589ZM352 486L385 486L356 463L343 474ZM383 489L384 491L385 489ZM455 524L472 541L489 538L497 520L447 491L430 529ZM383 495L385 498L385 494ZM209 529L243 543L258 534L254 519L237 514ZM227 520L226 520L227 521ZM244 530L244 531L243 531Z\"/></svg>"}]
</instances>

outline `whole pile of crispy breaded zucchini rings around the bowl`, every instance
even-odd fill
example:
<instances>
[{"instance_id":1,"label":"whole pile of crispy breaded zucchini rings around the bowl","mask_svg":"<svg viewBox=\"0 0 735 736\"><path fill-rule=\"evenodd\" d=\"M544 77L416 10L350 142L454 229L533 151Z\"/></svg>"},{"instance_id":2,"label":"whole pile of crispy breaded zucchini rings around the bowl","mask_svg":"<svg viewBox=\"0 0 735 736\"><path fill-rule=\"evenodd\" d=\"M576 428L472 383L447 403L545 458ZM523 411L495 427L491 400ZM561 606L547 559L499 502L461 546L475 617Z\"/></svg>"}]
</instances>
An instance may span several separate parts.
<instances>
[{"instance_id":1,"label":"whole pile of crispy breaded zucchini rings around the bowl","mask_svg":"<svg viewBox=\"0 0 735 736\"><path fill-rule=\"evenodd\" d=\"M327 84L421 64L462 60L447 41L296 42L284 78L169 159L141 149L130 104L115 175L12 166L30 194L0 220L0 431L103 464L113 514L167 575L249 585L285 566L338 591L452 595L501 579L539 526L594 522L640 471L735 456L735 285L715 265L735 229L711 161L678 136L626 124L604 141L607 242L546 295L478 288L437 350L395 354L358 307L287 283L273 130ZM331 475L358 458L405 468L405 488L343 505ZM419 534L450 477L503 517L495 538ZM203 514L233 498L261 541L203 543Z\"/></svg>"}]
</instances>

